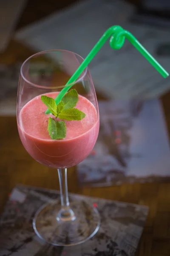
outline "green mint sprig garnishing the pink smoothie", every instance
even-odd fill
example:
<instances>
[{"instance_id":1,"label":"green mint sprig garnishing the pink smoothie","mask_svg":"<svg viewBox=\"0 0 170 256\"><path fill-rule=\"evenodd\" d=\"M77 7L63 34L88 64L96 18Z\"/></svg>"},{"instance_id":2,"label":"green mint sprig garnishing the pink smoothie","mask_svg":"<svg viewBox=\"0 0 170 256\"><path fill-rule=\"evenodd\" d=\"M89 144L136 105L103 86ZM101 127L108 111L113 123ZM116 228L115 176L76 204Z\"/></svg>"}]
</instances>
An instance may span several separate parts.
<instances>
[{"instance_id":1,"label":"green mint sprig garnishing the pink smoothie","mask_svg":"<svg viewBox=\"0 0 170 256\"><path fill-rule=\"evenodd\" d=\"M64 120L82 120L85 117L85 113L77 108L74 108L78 102L77 90L72 89L62 100L56 105L53 98L42 95L42 102L48 107L51 113L56 117L54 120L52 117L48 119L48 133L53 140L64 139L66 136L66 125L64 121L57 121L57 118Z\"/></svg>"}]
</instances>

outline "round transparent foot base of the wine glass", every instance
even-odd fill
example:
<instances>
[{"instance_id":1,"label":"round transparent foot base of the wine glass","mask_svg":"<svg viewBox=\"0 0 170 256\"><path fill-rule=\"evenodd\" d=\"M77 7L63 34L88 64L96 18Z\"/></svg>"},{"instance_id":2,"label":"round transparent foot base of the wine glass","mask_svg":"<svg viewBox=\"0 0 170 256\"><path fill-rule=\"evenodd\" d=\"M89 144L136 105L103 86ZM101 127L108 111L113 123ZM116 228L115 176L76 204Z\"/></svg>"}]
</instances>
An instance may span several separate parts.
<instances>
[{"instance_id":1,"label":"round transparent foot base of the wine glass","mask_svg":"<svg viewBox=\"0 0 170 256\"><path fill-rule=\"evenodd\" d=\"M85 201L70 202L74 218L64 221L58 218L60 201L42 206L35 215L33 227L37 236L49 244L71 246L81 244L99 230L100 217L96 208Z\"/></svg>"}]
</instances>

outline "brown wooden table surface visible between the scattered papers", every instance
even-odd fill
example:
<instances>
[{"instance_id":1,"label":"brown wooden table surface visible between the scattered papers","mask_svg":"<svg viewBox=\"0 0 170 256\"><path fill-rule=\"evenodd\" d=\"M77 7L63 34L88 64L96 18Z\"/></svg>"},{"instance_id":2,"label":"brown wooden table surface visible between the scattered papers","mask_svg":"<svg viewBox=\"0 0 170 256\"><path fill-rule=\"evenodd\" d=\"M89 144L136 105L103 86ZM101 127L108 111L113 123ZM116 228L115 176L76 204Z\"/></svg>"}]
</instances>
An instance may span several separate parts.
<instances>
[{"instance_id":1,"label":"brown wooden table surface visible between the scattered papers","mask_svg":"<svg viewBox=\"0 0 170 256\"><path fill-rule=\"evenodd\" d=\"M35 4L38 1L29 1L18 27L32 21L28 14L32 7L35 8L35 6L32 6L33 2ZM39 17L55 10L54 5L58 3L58 1L48 1L48 3L52 3L52 10L47 1L41 0L39 2L41 2L41 10L37 13ZM71 3L71 1L65 2ZM48 13L45 12L47 9ZM37 15L35 15L36 19ZM11 41L6 52L0 54L0 63L11 64L15 61L24 61L32 53L30 49L22 44ZM170 93L163 96L161 100L170 134ZM102 188L81 188L78 185L74 168L68 171L68 180L71 180L71 182L68 182L70 192L147 205L149 215L136 255L170 256L169 183L135 183ZM8 199L8 194L17 183L59 189L57 171L37 163L23 148L17 131L16 118L0 116L0 212Z\"/></svg>"}]
</instances>

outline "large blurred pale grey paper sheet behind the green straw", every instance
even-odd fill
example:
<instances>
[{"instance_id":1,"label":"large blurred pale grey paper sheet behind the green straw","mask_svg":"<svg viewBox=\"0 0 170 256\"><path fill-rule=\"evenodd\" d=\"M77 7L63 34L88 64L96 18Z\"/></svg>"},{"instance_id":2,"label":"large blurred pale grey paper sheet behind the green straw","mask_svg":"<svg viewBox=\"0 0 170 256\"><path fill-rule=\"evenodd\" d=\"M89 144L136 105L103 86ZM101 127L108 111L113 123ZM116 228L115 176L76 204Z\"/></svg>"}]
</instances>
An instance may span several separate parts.
<instances>
[{"instance_id":1,"label":"large blurred pale grey paper sheet behind the green straw","mask_svg":"<svg viewBox=\"0 0 170 256\"><path fill-rule=\"evenodd\" d=\"M119 24L155 55L160 44L170 41L169 31L130 23L133 12L122 0L87 0L17 32L15 38L37 51L66 49L85 58L105 30ZM156 59L170 69L170 58ZM107 42L89 68L96 88L110 98L152 98L170 89L168 79L163 79L127 40L120 50L111 49Z\"/></svg>"}]
</instances>

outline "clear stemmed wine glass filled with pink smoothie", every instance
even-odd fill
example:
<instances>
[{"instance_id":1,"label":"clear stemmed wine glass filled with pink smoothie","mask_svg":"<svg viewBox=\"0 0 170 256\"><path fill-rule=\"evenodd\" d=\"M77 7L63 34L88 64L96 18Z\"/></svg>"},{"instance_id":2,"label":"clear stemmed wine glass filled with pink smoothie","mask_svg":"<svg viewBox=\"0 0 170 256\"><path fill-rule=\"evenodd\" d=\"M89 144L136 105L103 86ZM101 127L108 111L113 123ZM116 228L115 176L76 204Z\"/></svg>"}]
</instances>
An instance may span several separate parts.
<instances>
[{"instance_id":1,"label":"clear stemmed wine glass filled with pink smoothie","mask_svg":"<svg viewBox=\"0 0 170 256\"><path fill-rule=\"evenodd\" d=\"M60 200L43 205L33 220L37 235L58 246L87 241L100 224L95 207L79 199L69 201L67 186L67 168L90 154L99 133L98 103L88 68L71 87L79 95L76 108L86 116L79 121L65 121L64 139L51 139L48 119L53 115L45 114L47 107L41 100L42 94L56 98L82 61L79 55L65 50L34 54L21 67L17 93L17 125L24 147L39 163L58 170Z\"/></svg>"}]
</instances>

